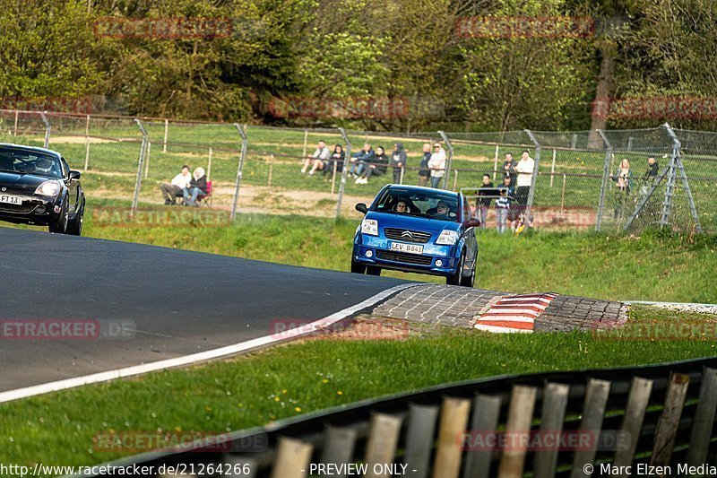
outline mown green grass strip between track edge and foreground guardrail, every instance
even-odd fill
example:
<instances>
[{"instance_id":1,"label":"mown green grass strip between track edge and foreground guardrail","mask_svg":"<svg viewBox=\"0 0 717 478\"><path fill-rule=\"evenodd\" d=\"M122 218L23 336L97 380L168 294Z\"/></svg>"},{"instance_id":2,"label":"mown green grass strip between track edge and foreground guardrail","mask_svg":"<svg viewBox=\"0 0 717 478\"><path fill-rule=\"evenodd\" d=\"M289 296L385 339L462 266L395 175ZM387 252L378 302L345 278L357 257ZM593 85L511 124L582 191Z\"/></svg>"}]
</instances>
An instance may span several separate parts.
<instances>
[{"instance_id":1,"label":"mown green grass strip between track edge and foreground guardrail","mask_svg":"<svg viewBox=\"0 0 717 478\"><path fill-rule=\"evenodd\" d=\"M689 320L700 330L699 324L707 328L715 317L636 308L631 319L635 326L656 329ZM624 337L491 335L433 327L418 328L400 341L290 343L229 361L2 404L0 462L95 464L132 454L95 447L92 439L99 434L221 433L456 380L714 355L713 341L653 342L635 340L629 332Z\"/></svg>"}]
</instances>

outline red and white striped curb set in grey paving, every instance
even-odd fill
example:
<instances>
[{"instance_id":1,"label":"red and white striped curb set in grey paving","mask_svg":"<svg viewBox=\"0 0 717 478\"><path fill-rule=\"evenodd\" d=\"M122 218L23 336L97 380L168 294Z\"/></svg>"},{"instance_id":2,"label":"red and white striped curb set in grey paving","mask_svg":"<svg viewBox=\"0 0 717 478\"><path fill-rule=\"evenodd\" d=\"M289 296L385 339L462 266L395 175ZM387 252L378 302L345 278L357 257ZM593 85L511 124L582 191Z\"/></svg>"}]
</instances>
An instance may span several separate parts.
<instances>
[{"instance_id":1,"label":"red and white striped curb set in grey paving","mask_svg":"<svg viewBox=\"0 0 717 478\"><path fill-rule=\"evenodd\" d=\"M475 328L504 334L531 333L535 319L556 297L552 292L504 297L478 317Z\"/></svg>"}]
</instances>

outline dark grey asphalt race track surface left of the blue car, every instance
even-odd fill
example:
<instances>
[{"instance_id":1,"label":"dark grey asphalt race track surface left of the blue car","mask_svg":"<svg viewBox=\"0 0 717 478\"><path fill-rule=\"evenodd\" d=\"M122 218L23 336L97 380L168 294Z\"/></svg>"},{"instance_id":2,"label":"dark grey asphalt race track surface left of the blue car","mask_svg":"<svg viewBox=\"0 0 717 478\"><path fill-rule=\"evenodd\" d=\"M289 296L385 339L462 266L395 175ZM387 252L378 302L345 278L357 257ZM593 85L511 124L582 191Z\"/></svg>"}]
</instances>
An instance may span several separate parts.
<instances>
[{"instance_id":1,"label":"dark grey asphalt race track surface left of the blue car","mask_svg":"<svg viewBox=\"0 0 717 478\"><path fill-rule=\"evenodd\" d=\"M28 340L0 328L0 392L272 335L273 321L323 318L405 282L3 227L0 280L3 324L102 329Z\"/></svg>"}]
</instances>

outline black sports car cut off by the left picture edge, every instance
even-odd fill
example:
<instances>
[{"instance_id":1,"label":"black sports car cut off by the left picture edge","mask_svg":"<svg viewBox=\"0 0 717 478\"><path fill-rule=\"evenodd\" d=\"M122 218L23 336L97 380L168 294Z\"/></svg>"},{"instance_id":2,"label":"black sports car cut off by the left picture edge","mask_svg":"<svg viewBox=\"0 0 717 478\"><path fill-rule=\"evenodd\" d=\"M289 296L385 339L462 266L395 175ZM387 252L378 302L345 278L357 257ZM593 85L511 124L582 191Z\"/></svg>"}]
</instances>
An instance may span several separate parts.
<instances>
[{"instance_id":1,"label":"black sports car cut off by the left picture edge","mask_svg":"<svg viewBox=\"0 0 717 478\"><path fill-rule=\"evenodd\" d=\"M59 152L0 143L0 220L82 234L80 172Z\"/></svg>"}]
</instances>

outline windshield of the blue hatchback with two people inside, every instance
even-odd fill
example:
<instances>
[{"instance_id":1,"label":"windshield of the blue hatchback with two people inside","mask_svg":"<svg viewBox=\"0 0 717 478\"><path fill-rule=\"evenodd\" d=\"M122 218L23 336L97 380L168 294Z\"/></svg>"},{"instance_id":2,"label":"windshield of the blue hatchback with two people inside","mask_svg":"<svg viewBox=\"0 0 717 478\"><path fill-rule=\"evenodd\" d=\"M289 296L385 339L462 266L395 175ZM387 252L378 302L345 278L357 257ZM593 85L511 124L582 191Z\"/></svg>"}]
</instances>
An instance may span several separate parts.
<instances>
[{"instance_id":1,"label":"windshield of the blue hatchback with two people inside","mask_svg":"<svg viewBox=\"0 0 717 478\"><path fill-rule=\"evenodd\" d=\"M376 202L375 211L428 217L439 221L457 222L458 196L444 191L417 191L389 187Z\"/></svg>"}]
</instances>

